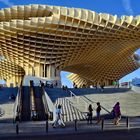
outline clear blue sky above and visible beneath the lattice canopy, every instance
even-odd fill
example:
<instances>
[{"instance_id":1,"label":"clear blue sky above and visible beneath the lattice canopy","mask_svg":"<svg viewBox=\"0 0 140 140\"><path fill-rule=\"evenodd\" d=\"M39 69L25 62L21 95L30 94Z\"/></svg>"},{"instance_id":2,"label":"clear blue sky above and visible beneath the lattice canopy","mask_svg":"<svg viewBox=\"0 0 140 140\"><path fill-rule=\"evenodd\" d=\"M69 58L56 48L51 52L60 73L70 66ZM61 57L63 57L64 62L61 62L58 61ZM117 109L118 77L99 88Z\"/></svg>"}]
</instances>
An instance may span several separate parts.
<instances>
[{"instance_id":1,"label":"clear blue sky above and visible beneath the lattice canopy","mask_svg":"<svg viewBox=\"0 0 140 140\"><path fill-rule=\"evenodd\" d=\"M26 4L47 4L75 8L84 8L97 13L109 13L112 15L140 15L140 0L0 0L0 8L7 8L14 5ZM140 50L138 51L140 54ZM61 73L62 83L71 86L66 79L67 72ZM121 81L128 81L140 77L140 69L125 76Z\"/></svg>"}]
</instances>

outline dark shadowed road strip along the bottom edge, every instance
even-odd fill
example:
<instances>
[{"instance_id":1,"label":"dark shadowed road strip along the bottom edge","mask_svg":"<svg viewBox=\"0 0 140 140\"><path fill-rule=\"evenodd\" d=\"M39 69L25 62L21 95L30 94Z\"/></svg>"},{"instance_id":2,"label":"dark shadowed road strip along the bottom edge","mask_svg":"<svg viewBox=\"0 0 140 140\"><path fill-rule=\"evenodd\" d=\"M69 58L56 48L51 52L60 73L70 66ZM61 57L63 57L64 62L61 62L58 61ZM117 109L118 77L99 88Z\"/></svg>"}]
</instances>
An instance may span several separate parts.
<instances>
[{"instance_id":1,"label":"dark shadowed road strip along the bottom edge","mask_svg":"<svg viewBox=\"0 0 140 140\"><path fill-rule=\"evenodd\" d=\"M98 131L98 132L73 132L65 134L26 134L0 136L1 140L140 140L140 129Z\"/></svg>"}]
</instances>

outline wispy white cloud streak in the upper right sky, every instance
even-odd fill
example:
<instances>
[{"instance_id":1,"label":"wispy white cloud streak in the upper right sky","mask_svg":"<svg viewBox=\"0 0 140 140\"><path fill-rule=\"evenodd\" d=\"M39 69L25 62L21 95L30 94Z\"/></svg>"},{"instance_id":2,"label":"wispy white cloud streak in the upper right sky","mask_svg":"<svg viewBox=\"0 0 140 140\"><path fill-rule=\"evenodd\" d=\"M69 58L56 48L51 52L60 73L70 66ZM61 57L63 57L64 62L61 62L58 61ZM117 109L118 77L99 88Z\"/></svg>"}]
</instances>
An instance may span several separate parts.
<instances>
[{"instance_id":1,"label":"wispy white cloud streak in the upper right sky","mask_svg":"<svg viewBox=\"0 0 140 140\"><path fill-rule=\"evenodd\" d=\"M130 15L134 14L132 6L131 6L131 0L123 0L123 7L128 14Z\"/></svg>"}]
</instances>

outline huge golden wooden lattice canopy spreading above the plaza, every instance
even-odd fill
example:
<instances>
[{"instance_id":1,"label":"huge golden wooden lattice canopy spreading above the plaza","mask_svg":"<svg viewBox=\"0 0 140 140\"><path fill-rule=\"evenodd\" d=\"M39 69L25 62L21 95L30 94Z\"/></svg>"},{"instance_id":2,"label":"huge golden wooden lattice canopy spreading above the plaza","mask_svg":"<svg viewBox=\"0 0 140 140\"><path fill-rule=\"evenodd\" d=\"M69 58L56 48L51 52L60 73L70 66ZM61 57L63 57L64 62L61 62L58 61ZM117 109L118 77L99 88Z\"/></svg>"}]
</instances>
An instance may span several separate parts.
<instances>
[{"instance_id":1,"label":"huge golden wooden lattice canopy spreading above the plaza","mask_svg":"<svg viewBox=\"0 0 140 140\"><path fill-rule=\"evenodd\" d=\"M137 69L139 38L140 16L46 5L0 10L0 55L16 64L54 64L85 79L117 80Z\"/></svg>"}]
</instances>

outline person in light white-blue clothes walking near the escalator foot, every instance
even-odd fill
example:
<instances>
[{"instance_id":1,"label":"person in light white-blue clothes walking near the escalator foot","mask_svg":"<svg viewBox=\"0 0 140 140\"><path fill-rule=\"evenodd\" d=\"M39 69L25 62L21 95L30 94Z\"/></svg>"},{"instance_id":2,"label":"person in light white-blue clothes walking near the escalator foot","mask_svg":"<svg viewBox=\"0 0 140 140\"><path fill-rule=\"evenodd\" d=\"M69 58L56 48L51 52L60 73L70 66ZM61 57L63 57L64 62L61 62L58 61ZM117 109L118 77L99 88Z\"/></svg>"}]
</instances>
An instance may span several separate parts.
<instances>
[{"instance_id":1,"label":"person in light white-blue clothes walking near the escalator foot","mask_svg":"<svg viewBox=\"0 0 140 140\"><path fill-rule=\"evenodd\" d=\"M61 105L58 105L58 108L55 111L55 115L56 115L56 118L55 118L54 123L52 124L53 128L56 128L57 126L65 127L65 124L62 119L62 106Z\"/></svg>"}]
</instances>

